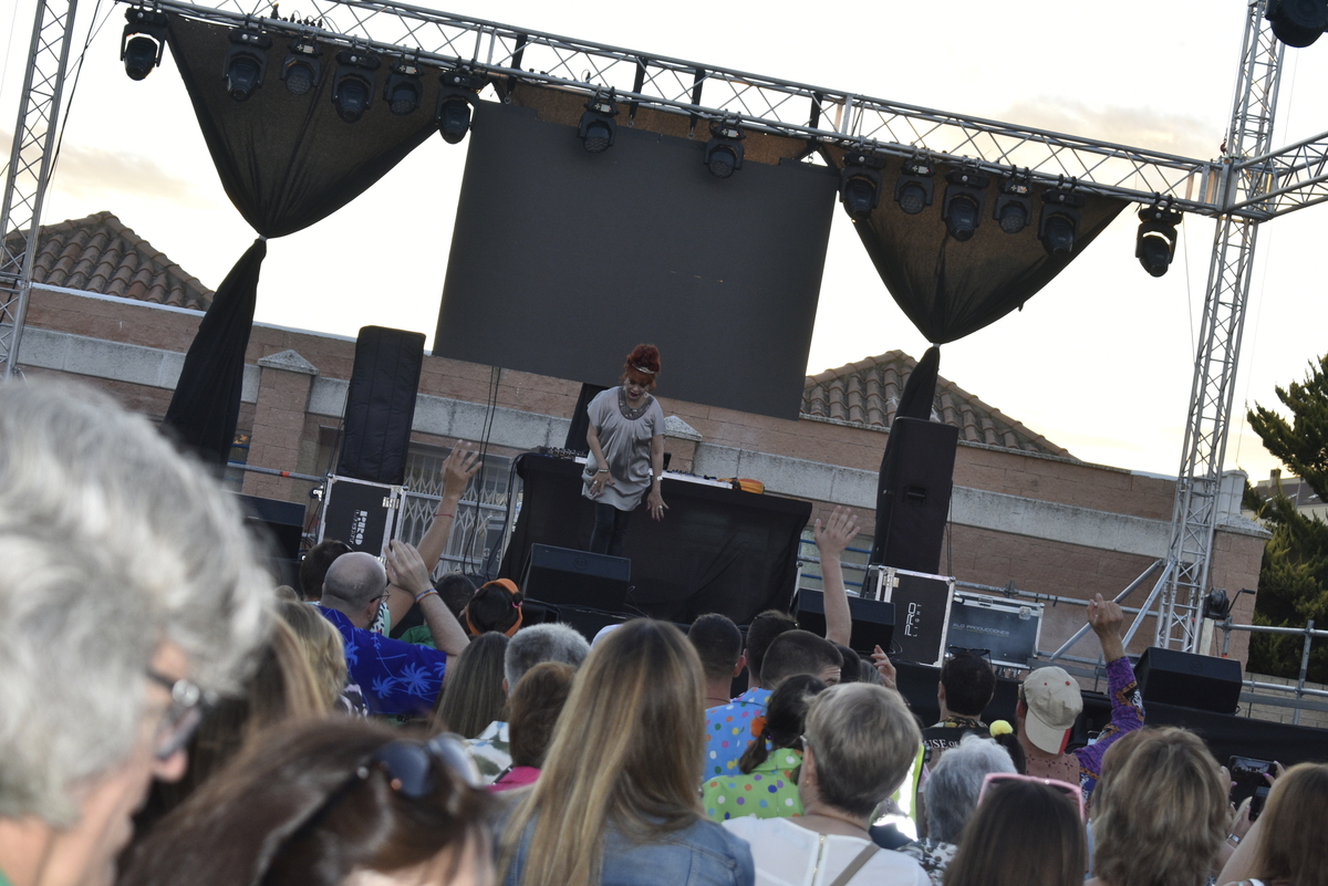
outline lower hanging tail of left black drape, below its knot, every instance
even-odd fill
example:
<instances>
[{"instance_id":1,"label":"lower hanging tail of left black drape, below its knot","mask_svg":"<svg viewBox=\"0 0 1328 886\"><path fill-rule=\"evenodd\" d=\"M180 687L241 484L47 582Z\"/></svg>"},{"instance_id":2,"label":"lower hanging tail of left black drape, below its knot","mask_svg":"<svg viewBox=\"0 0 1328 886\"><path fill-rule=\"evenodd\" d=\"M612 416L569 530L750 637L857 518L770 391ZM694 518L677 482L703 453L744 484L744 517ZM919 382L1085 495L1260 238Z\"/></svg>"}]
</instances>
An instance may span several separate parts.
<instances>
[{"instance_id":1,"label":"lower hanging tail of left black drape, below its knot","mask_svg":"<svg viewBox=\"0 0 1328 886\"><path fill-rule=\"evenodd\" d=\"M244 349L254 325L258 272L267 243L255 240L212 296L185 355L166 424L205 462L224 466L235 439L244 386Z\"/></svg>"}]
</instances>

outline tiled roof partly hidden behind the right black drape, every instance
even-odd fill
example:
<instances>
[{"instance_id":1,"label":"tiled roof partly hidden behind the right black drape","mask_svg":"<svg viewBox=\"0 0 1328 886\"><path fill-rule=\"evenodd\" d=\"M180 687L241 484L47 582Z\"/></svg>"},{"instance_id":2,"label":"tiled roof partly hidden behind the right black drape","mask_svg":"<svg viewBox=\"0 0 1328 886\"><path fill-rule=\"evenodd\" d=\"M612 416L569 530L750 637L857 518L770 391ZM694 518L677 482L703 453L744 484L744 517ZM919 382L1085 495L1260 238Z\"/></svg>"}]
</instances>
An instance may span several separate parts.
<instances>
[{"instance_id":1,"label":"tiled roof partly hidden behind the right black drape","mask_svg":"<svg viewBox=\"0 0 1328 886\"><path fill-rule=\"evenodd\" d=\"M888 428L895 420L904 382L916 365L918 361L908 354L892 350L809 375L802 391L802 414ZM959 439L968 443L1073 458L1041 434L1001 415L1000 410L944 378L936 381L931 418L957 427Z\"/></svg>"}]
</instances>

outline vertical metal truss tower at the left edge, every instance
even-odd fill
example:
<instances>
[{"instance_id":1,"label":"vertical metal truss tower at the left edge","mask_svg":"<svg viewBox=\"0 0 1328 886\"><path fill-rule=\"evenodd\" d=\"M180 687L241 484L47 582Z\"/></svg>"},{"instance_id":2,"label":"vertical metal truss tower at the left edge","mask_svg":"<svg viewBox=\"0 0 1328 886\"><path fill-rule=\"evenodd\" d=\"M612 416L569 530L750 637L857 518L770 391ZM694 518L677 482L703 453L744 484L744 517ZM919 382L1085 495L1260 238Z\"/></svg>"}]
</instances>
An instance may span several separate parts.
<instances>
[{"instance_id":1,"label":"vertical metal truss tower at the left edge","mask_svg":"<svg viewBox=\"0 0 1328 886\"><path fill-rule=\"evenodd\" d=\"M0 379L13 375L19 361L77 7L78 0L37 0L33 16L9 175L0 206Z\"/></svg>"}]
</instances>

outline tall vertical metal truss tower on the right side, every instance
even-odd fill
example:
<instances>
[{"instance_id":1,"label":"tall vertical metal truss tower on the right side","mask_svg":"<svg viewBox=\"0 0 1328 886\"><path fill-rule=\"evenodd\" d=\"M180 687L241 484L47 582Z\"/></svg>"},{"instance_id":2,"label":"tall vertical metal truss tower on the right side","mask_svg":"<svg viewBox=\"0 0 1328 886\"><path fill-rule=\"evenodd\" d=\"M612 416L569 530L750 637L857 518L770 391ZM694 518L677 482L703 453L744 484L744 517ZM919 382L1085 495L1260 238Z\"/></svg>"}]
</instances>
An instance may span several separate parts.
<instances>
[{"instance_id":1,"label":"tall vertical metal truss tower on the right side","mask_svg":"<svg viewBox=\"0 0 1328 886\"><path fill-rule=\"evenodd\" d=\"M1238 194L1266 194L1278 175L1271 159L1243 163L1246 158L1266 158L1272 147L1278 84L1286 52L1264 21L1263 12L1264 0L1251 3L1247 9L1240 73L1226 142L1228 168L1222 176L1224 192L1218 195L1220 206L1234 204ZM1267 211L1267 206L1258 202L1248 206ZM1157 646L1207 651L1197 649L1199 622L1208 588L1222 466L1259 224L1258 218L1242 218L1230 211L1216 219L1185 448L1175 487L1169 569L1158 597Z\"/></svg>"}]
</instances>

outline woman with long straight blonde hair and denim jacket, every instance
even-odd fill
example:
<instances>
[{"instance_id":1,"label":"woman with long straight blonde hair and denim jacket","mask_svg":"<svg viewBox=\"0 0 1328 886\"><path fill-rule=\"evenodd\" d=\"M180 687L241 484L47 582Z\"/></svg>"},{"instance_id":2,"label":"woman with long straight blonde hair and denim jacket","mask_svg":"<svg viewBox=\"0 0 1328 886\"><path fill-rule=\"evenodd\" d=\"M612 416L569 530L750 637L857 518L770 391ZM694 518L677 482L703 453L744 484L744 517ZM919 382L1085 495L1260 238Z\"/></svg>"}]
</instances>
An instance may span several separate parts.
<instances>
[{"instance_id":1,"label":"woman with long straight blonde hair and denim jacket","mask_svg":"<svg viewBox=\"0 0 1328 886\"><path fill-rule=\"evenodd\" d=\"M746 845L701 813L704 687L667 622L627 622L591 651L503 830L509 886L750 886Z\"/></svg>"}]
</instances>

